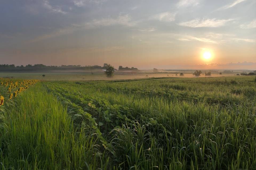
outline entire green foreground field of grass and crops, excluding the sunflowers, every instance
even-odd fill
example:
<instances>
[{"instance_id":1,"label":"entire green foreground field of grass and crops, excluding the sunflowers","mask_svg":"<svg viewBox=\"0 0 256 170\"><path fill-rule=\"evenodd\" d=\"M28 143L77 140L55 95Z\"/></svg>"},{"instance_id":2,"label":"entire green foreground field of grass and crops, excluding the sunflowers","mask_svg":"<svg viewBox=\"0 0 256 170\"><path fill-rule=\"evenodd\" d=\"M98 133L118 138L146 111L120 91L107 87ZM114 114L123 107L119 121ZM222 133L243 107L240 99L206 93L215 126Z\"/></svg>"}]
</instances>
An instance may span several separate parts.
<instances>
[{"instance_id":1,"label":"entire green foreground field of grass and crops, excluding the sunflowers","mask_svg":"<svg viewBox=\"0 0 256 170\"><path fill-rule=\"evenodd\" d=\"M256 169L253 76L0 87L1 169Z\"/></svg>"}]
</instances>

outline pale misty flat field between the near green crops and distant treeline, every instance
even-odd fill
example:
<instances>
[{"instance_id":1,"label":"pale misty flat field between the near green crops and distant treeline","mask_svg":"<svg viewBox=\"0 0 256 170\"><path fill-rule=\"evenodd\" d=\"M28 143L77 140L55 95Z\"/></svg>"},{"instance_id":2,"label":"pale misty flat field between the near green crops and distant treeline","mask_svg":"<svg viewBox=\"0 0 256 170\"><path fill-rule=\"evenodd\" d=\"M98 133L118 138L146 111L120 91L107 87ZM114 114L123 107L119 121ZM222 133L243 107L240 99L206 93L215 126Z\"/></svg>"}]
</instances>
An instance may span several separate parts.
<instances>
[{"instance_id":1,"label":"pale misty flat field between the near green crops and distant treeline","mask_svg":"<svg viewBox=\"0 0 256 170\"><path fill-rule=\"evenodd\" d=\"M192 75L191 72L182 72L184 73L183 76L176 76L175 73L172 72L159 72L153 73L152 71L141 72L136 74L120 74L114 73L114 76L111 78L107 78L105 73L102 72L93 72L91 71L80 71L80 72L0 72L0 77L7 77L7 78L14 78L14 79L39 79L43 81L60 81L60 80L69 80L69 81L90 81L90 80L123 80L123 79L143 79L143 78L161 78L161 77L186 77L186 78L193 78L195 77ZM230 72L230 73L213 73L211 77L223 77L223 76L234 76L237 73L241 73L241 71ZM42 77L45 75L45 77ZM209 77L205 76L204 74L201 77Z\"/></svg>"}]
</instances>

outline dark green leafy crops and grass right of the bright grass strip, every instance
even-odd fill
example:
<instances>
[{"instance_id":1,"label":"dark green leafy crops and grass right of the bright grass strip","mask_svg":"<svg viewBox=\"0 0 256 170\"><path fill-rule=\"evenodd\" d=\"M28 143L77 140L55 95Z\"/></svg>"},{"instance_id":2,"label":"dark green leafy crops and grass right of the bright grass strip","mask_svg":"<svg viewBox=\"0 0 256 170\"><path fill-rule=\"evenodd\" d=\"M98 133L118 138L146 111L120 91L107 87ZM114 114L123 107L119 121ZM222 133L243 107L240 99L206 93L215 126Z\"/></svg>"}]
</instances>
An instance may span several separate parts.
<instances>
[{"instance_id":1,"label":"dark green leafy crops and grass right of the bright grass strip","mask_svg":"<svg viewBox=\"0 0 256 170\"><path fill-rule=\"evenodd\" d=\"M241 88L243 80L225 85L224 90L212 84L215 96L212 90L205 96L196 94L198 84L193 81L205 80L54 82L45 86L67 105L74 126L86 129L88 135L97 134L97 155L109 160L103 163L107 169L253 169L255 97L249 101L231 94L232 89ZM188 87L194 91L187 91ZM196 98L197 102L191 102Z\"/></svg>"}]
</instances>

